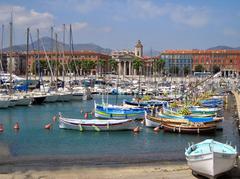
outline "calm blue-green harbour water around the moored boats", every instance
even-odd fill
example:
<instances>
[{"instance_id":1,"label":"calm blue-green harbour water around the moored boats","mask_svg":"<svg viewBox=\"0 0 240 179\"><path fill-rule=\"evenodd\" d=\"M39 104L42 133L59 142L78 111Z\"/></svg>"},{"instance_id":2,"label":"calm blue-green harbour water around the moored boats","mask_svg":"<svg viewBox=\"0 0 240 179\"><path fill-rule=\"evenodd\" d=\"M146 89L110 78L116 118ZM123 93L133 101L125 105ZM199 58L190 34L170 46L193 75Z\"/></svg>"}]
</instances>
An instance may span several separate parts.
<instances>
[{"instance_id":1,"label":"calm blue-green harbour water around the moored boats","mask_svg":"<svg viewBox=\"0 0 240 179\"><path fill-rule=\"evenodd\" d=\"M118 101L130 96L119 96ZM232 97L230 97L232 98ZM95 96L101 102L100 96ZM231 99L232 100L232 99ZM109 103L115 103L115 96L109 96ZM52 122L52 117L62 112L66 117L83 117L80 110L91 111L93 100L83 102L67 102L44 104L31 107L15 107L0 110L0 123L5 131L0 134L1 145L9 148L14 157L23 156L136 156L139 158L158 160L184 159L184 148L188 142L200 142L206 138L218 141L231 141L240 148L239 134L232 118L233 104L229 103L225 110L223 131L215 135L186 135L153 132L150 128L142 128L139 134L132 131L119 132L79 132L58 128L58 122L48 131L44 125ZM14 131L13 125L18 121L20 130Z\"/></svg>"}]
</instances>

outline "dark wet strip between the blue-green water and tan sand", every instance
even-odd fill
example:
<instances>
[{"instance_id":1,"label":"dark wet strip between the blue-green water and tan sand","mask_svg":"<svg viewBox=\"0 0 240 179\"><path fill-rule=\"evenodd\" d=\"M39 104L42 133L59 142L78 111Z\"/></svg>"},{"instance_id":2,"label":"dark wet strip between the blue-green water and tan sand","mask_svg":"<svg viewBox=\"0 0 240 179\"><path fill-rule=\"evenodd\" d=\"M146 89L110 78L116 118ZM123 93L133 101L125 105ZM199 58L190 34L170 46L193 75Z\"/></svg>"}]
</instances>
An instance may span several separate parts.
<instances>
[{"instance_id":1,"label":"dark wet strip between the blue-green water and tan sand","mask_svg":"<svg viewBox=\"0 0 240 179\"><path fill-rule=\"evenodd\" d=\"M0 159L0 173L11 173L15 171L58 169L59 167L126 167L138 165L168 165L186 164L186 160L162 160L159 158L145 158L138 156L21 156L3 157Z\"/></svg>"}]
</instances>

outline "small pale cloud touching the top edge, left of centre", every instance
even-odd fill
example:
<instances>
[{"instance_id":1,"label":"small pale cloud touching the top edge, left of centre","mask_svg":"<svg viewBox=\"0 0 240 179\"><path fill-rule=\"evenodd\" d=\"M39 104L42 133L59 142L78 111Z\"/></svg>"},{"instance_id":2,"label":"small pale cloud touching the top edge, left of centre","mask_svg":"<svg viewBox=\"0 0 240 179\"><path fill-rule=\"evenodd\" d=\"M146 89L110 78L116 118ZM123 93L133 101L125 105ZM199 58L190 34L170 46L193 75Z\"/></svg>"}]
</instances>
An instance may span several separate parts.
<instances>
[{"instance_id":1,"label":"small pale cloud touching the top edge, left of centre","mask_svg":"<svg viewBox=\"0 0 240 179\"><path fill-rule=\"evenodd\" d=\"M81 0L77 3L75 8L80 13L87 13L96 8L98 8L102 4L103 0Z\"/></svg>"}]
</instances>

